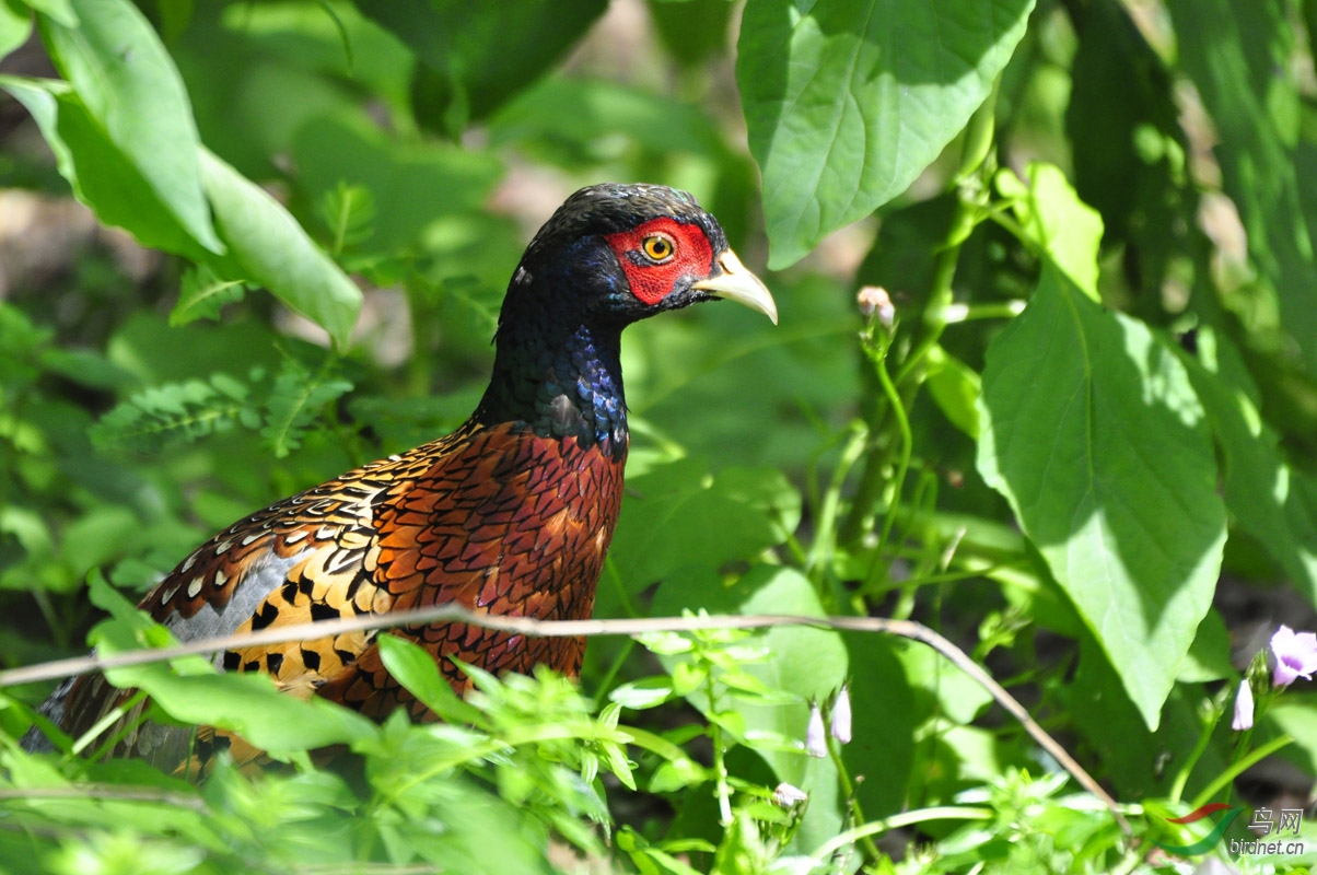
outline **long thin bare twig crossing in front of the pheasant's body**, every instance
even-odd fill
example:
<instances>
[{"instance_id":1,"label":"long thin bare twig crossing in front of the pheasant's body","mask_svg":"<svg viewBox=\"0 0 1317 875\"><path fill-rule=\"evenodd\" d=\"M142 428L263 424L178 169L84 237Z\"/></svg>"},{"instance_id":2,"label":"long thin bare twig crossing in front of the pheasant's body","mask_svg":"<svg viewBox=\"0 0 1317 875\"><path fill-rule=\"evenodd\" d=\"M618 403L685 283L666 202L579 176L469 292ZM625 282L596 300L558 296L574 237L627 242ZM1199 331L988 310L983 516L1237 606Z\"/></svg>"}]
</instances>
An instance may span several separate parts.
<instances>
[{"instance_id":1,"label":"long thin bare twig crossing in front of the pheasant's body","mask_svg":"<svg viewBox=\"0 0 1317 875\"><path fill-rule=\"evenodd\" d=\"M1089 793L1096 796L1110 809L1115 822L1130 834L1130 825L1121 814L1115 800L1093 780L1083 766L1072 758L1060 742L1047 734L1029 716L1014 696L998 684L993 677L973 662L963 650L950 640L932 631L922 623L907 619L886 619L882 617L799 617L790 614L701 614L697 617L649 617L635 619L531 619L528 617L507 617L499 614L473 613L458 605L441 605L436 607L423 607L412 611L396 614L345 617L341 619L327 619L312 623L299 623L295 626L277 626L263 629L258 633L244 633L228 635L225 638L208 638L203 640L187 642L178 647L161 647L157 650L134 650L112 656L80 656L75 659L59 659L49 663L40 663L24 668L12 668L0 672L0 688L16 684L30 684L41 680L54 680L59 677L72 677L107 668L122 665L141 665L145 663L165 662L182 656L195 656L211 654L221 650L244 650L248 647L261 647L267 644L283 644L295 640L312 640L345 635L349 633L366 631L371 629L394 629L398 626L428 625L441 622L460 622L469 626L479 626L493 631L511 633L518 635L533 635L539 638L574 638L593 635L643 635L647 633L689 633L706 629L765 629L770 626L811 626L815 629L834 629L840 631L859 633L885 633L921 642L932 647L946 656L960 671L969 675L980 687L986 689L997 704L1014 717L1025 731L1038 742L1038 745L1056 759L1060 766Z\"/></svg>"}]
</instances>

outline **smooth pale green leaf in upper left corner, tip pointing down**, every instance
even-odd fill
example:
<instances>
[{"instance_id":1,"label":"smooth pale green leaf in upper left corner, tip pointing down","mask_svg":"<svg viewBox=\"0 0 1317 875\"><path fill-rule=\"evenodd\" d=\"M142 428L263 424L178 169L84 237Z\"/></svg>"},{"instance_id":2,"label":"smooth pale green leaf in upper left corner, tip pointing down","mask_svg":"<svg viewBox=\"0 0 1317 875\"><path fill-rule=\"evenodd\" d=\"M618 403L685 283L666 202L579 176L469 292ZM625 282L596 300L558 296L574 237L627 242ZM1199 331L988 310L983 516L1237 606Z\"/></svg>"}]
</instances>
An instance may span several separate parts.
<instances>
[{"instance_id":1,"label":"smooth pale green leaf in upper left corner, tip pointing down","mask_svg":"<svg viewBox=\"0 0 1317 875\"><path fill-rule=\"evenodd\" d=\"M202 191L192 104L174 59L129 0L70 5L74 26L38 16L55 66L179 225L204 249L224 252Z\"/></svg>"}]
</instances>

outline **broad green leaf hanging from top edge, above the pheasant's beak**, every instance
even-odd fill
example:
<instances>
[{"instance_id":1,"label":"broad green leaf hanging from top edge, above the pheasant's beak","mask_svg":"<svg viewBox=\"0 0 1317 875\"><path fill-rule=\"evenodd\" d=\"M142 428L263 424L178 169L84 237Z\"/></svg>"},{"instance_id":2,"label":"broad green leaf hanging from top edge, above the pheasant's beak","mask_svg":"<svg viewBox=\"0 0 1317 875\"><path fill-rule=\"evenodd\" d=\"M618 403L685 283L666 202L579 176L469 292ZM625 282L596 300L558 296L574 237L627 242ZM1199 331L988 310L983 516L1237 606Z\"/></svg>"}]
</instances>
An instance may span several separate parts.
<instances>
[{"instance_id":1,"label":"broad green leaf hanging from top edge, above the pheasant's beak","mask_svg":"<svg viewBox=\"0 0 1317 875\"><path fill-rule=\"evenodd\" d=\"M752 0L736 80L785 268L914 182L1006 66L1034 0Z\"/></svg>"}]
</instances>

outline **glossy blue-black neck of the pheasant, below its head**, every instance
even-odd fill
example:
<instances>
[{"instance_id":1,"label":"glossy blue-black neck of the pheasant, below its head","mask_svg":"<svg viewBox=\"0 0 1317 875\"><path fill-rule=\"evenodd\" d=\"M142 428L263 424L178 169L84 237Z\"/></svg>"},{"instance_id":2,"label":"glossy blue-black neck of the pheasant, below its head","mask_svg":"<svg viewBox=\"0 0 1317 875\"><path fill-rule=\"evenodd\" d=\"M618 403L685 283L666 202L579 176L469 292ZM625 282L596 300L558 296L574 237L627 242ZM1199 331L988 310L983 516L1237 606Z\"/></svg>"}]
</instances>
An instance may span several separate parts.
<instances>
[{"instance_id":1,"label":"glossy blue-black neck of the pheasant, below its head","mask_svg":"<svg viewBox=\"0 0 1317 875\"><path fill-rule=\"evenodd\" d=\"M475 419L524 422L545 438L577 438L582 445L626 452L622 328L591 328L570 312L516 304L504 304L494 376Z\"/></svg>"}]
</instances>

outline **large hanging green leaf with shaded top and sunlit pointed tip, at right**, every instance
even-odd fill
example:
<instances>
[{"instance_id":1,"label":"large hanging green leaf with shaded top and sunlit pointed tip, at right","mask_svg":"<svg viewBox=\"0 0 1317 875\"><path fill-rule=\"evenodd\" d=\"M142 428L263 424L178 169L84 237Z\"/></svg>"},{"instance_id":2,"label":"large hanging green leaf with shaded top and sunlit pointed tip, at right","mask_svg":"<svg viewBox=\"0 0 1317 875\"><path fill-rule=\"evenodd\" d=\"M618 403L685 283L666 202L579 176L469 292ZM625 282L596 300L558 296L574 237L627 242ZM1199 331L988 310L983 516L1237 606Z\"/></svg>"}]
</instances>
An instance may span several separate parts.
<instances>
[{"instance_id":1,"label":"large hanging green leaf with shaded top and sunlit pointed tip, at right","mask_svg":"<svg viewBox=\"0 0 1317 875\"><path fill-rule=\"evenodd\" d=\"M979 470L1156 729L1225 543L1217 464L1184 365L1048 265L988 348L981 422Z\"/></svg>"}]
</instances>

